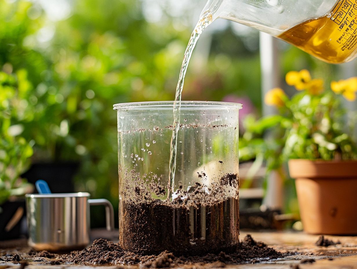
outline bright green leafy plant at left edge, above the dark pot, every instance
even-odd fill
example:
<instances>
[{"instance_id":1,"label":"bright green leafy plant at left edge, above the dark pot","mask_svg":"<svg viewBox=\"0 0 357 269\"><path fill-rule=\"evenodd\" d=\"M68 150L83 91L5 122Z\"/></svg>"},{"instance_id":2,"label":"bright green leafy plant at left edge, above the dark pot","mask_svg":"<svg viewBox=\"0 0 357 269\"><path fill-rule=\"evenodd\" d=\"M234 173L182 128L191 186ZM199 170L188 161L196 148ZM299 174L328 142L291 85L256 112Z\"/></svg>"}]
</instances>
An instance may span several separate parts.
<instances>
[{"instance_id":1,"label":"bright green leafy plant at left edge, above the dark pot","mask_svg":"<svg viewBox=\"0 0 357 269\"><path fill-rule=\"evenodd\" d=\"M32 189L20 178L30 163L32 143L21 136L23 126L14 124L29 115L25 103L30 88L24 70L16 75L0 72L0 205Z\"/></svg>"}]
</instances>

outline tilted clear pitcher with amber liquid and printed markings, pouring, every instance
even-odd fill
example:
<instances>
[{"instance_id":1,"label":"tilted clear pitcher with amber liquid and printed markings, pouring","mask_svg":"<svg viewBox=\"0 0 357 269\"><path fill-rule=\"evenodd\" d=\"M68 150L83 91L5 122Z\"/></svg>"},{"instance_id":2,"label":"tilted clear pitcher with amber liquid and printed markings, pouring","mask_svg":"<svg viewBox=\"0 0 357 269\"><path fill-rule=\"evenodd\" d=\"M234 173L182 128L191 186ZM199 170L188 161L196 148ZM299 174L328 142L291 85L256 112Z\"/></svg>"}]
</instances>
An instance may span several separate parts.
<instances>
[{"instance_id":1,"label":"tilted clear pitcher with amber liquid and printed markings, pouring","mask_svg":"<svg viewBox=\"0 0 357 269\"><path fill-rule=\"evenodd\" d=\"M327 63L357 56L357 0L208 0L205 17L245 24Z\"/></svg>"}]
</instances>

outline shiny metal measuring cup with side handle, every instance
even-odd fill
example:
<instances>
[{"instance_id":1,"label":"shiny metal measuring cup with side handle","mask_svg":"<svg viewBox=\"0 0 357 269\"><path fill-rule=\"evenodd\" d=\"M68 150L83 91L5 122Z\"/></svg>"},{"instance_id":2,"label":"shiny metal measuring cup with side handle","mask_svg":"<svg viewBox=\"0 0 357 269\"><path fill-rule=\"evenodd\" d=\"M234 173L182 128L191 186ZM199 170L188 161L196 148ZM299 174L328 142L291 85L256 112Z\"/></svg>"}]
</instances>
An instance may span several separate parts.
<instances>
[{"instance_id":1,"label":"shiny metal measuring cup with side handle","mask_svg":"<svg viewBox=\"0 0 357 269\"><path fill-rule=\"evenodd\" d=\"M28 244L35 250L63 251L89 245L90 205L104 205L106 229L114 229L114 210L107 199L89 193L26 194Z\"/></svg>"}]
</instances>

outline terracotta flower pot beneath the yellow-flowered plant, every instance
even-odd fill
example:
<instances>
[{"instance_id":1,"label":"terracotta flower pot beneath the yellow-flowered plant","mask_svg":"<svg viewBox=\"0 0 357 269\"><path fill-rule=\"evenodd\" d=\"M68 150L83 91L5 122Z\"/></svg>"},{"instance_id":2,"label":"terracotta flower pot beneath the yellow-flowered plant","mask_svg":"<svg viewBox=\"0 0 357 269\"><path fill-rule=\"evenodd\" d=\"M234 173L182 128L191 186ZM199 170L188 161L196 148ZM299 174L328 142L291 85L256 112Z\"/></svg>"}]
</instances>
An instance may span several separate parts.
<instances>
[{"instance_id":1,"label":"terracotta flower pot beneath the yellow-flowered plant","mask_svg":"<svg viewBox=\"0 0 357 269\"><path fill-rule=\"evenodd\" d=\"M357 161L289 160L304 230L357 234Z\"/></svg>"}]
</instances>

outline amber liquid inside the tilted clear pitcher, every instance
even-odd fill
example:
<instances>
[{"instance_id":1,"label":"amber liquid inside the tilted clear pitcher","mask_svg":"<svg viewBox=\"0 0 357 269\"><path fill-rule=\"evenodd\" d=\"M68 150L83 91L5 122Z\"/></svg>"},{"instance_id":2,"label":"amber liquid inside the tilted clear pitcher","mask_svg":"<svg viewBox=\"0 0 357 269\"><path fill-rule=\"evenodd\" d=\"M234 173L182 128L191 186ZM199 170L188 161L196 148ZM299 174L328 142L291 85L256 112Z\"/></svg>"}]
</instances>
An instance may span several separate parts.
<instances>
[{"instance_id":1,"label":"amber liquid inside the tilted clear pitcher","mask_svg":"<svg viewBox=\"0 0 357 269\"><path fill-rule=\"evenodd\" d=\"M328 63L352 60L357 52L357 1L338 1L326 16L305 21L277 37Z\"/></svg>"}]
</instances>

